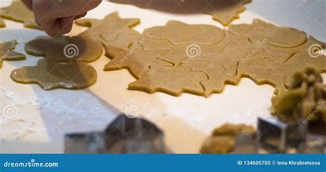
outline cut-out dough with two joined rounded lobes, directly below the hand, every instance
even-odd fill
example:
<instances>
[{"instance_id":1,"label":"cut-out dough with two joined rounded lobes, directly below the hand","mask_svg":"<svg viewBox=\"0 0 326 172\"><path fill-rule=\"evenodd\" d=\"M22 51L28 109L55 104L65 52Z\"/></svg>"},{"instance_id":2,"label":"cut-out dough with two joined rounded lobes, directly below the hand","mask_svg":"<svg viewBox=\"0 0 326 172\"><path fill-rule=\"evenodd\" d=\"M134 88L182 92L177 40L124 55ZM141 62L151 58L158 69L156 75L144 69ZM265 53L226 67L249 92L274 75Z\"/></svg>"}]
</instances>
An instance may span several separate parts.
<instances>
[{"instance_id":1,"label":"cut-out dough with two joined rounded lobes, directly below the hand","mask_svg":"<svg viewBox=\"0 0 326 172\"><path fill-rule=\"evenodd\" d=\"M43 89L84 89L96 83L91 63L102 55L100 42L83 36L42 36L25 44L25 51L45 56L36 66L14 69L11 78L17 83L36 83Z\"/></svg>"}]
</instances>

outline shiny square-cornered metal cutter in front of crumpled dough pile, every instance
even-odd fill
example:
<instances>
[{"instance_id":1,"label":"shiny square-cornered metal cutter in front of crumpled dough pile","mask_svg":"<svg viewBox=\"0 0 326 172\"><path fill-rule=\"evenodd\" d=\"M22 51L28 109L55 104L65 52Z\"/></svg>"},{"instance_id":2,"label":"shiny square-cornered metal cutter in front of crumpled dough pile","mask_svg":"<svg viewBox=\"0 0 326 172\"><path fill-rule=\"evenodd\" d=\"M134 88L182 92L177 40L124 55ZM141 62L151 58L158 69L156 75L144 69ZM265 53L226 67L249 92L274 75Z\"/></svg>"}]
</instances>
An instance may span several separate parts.
<instances>
[{"instance_id":1,"label":"shiny square-cornered metal cutter in front of crumpled dough pile","mask_svg":"<svg viewBox=\"0 0 326 172\"><path fill-rule=\"evenodd\" d=\"M259 146L270 153L298 149L307 138L307 125L301 120L289 124L277 118L259 118L257 128Z\"/></svg>"}]
</instances>

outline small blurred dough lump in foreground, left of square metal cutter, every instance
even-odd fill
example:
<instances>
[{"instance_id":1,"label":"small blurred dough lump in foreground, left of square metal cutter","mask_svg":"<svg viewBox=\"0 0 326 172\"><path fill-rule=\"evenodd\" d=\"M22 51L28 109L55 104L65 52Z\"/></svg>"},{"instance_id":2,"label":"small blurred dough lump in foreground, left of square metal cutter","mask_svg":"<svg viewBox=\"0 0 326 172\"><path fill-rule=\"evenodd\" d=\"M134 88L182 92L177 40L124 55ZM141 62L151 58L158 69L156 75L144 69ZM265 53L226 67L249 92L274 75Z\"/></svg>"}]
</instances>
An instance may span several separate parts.
<instances>
[{"instance_id":1,"label":"small blurred dough lump in foreground, left of square metal cutter","mask_svg":"<svg viewBox=\"0 0 326 172\"><path fill-rule=\"evenodd\" d=\"M235 149L235 135L237 133L254 132L254 127L250 125L232 125L226 123L214 129L212 136L204 141L201 153L231 153Z\"/></svg>"}]
</instances>

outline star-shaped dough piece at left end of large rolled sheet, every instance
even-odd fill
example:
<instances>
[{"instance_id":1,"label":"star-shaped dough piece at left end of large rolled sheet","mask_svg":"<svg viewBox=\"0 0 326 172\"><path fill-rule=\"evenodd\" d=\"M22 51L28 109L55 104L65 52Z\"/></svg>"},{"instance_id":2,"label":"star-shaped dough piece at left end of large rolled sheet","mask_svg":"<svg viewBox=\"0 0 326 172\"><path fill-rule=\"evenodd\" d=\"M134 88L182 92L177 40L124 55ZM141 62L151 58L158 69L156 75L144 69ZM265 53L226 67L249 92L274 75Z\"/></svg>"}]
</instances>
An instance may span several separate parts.
<instances>
[{"instance_id":1,"label":"star-shaped dough piece at left end of large rolled sheet","mask_svg":"<svg viewBox=\"0 0 326 172\"><path fill-rule=\"evenodd\" d=\"M140 23L140 19L121 19L118 12L112 12L102 20L78 19L75 23L89 28L79 36L87 36L100 41L109 58L114 58L116 51L126 52L140 36L139 32L132 29Z\"/></svg>"}]
</instances>

